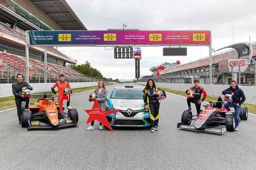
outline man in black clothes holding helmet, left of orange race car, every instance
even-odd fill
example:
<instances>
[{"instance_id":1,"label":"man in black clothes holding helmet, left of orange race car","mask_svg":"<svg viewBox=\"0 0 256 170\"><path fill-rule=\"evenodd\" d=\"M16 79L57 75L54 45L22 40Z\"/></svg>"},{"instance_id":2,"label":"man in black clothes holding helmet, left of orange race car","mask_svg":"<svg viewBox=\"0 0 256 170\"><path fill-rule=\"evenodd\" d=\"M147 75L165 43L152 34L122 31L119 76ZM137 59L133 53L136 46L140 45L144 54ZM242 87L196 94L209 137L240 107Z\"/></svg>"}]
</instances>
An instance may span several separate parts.
<instances>
[{"instance_id":1,"label":"man in black clothes holding helmet, left of orange race car","mask_svg":"<svg viewBox=\"0 0 256 170\"><path fill-rule=\"evenodd\" d=\"M27 82L23 81L22 74L18 74L16 78L17 78L17 81L12 84L12 89L13 89L13 95L15 96L15 103L17 107L19 124L21 124L22 123L22 101L26 102L25 110L29 110L28 106L30 103L30 98L24 98L24 95L22 95L22 90L25 90L25 89L33 90L33 88Z\"/></svg>"}]
</instances>

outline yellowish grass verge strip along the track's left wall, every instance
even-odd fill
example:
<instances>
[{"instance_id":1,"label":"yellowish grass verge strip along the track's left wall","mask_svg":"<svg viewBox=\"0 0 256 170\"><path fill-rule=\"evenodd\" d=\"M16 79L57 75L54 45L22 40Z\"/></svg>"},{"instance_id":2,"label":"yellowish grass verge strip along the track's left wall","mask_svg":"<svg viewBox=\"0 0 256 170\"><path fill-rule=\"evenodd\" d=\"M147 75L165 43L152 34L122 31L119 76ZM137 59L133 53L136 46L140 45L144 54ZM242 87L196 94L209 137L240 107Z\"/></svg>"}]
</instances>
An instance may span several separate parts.
<instances>
[{"instance_id":1,"label":"yellowish grass verge strip along the track's left wall","mask_svg":"<svg viewBox=\"0 0 256 170\"><path fill-rule=\"evenodd\" d=\"M106 83L105 86L110 86L112 85L111 83ZM72 89L73 93L76 92L84 92L90 89L96 89L97 86L85 86L85 87L79 87L79 88L74 88ZM39 92L39 93L45 93L45 92ZM39 94L36 93L36 94ZM46 92L48 93L48 92ZM49 93L51 93L51 91L49 91ZM34 103L38 100L38 98L30 98L30 103ZM10 109L15 107L15 101L14 101L14 96L10 96L10 97L5 97L5 98L0 98L0 110L4 110L4 109Z\"/></svg>"}]
</instances>

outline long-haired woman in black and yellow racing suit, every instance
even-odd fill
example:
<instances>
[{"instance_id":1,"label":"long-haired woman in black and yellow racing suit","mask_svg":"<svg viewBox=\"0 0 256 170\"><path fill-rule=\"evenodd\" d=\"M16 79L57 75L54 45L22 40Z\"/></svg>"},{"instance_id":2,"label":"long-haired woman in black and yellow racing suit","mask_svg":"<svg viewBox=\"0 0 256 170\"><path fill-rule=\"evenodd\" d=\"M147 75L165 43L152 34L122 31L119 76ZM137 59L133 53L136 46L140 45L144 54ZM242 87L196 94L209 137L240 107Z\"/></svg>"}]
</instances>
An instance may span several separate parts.
<instances>
[{"instance_id":1,"label":"long-haired woman in black and yellow racing suit","mask_svg":"<svg viewBox=\"0 0 256 170\"><path fill-rule=\"evenodd\" d=\"M162 94L160 93L162 91ZM158 123L160 118L160 102L159 99L166 98L165 92L157 88L152 79L148 79L145 89L143 89L143 100L145 108L148 109L151 120L151 132L155 132L158 129Z\"/></svg>"}]
</instances>

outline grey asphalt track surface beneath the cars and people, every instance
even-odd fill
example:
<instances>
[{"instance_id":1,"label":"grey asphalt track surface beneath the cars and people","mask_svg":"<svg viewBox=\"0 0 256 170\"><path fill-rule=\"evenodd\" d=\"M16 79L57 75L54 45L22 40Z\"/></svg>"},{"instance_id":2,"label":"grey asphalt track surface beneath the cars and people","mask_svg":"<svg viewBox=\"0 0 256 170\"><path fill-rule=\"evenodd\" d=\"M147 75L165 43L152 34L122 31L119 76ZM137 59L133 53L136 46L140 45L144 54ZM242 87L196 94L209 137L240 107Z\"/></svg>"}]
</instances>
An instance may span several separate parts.
<instances>
[{"instance_id":1,"label":"grey asphalt track surface beneath the cars and people","mask_svg":"<svg viewBox=\"0 0 256 170\"><path fill-rule=\"evenodd\" d=\"M256 169L254 115L242 121L239 132L222 136L182 131L176 127L186 100L167 93L158 132L100 131L99 123L88 131L84 109L91 109L90 92L71 96L77 128L29 132L18 125L16 109L0 112L0 169Z\"/></svg>"}]
</instances>

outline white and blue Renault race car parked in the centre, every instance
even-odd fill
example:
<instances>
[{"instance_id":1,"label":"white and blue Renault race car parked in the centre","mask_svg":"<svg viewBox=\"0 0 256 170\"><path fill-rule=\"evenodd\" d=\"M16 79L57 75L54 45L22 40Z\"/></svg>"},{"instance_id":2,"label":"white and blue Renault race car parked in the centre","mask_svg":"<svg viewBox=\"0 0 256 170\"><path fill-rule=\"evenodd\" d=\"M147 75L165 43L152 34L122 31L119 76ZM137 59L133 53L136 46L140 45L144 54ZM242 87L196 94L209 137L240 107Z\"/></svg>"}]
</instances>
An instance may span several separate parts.
<instances>
[{"instance_id":1,"label":"white and blue Renault race car parked in the centre","mask_svg":"<svg viewBox=\"0 0 256 170\"><path fill-rule=\"evenodd\" d=\"M107 115L111 126L150 126L142 90L140 86L117 86L112 90L106 110L118 112Z\"/></svg>"}]
</instances>

